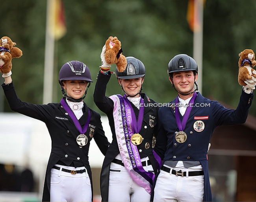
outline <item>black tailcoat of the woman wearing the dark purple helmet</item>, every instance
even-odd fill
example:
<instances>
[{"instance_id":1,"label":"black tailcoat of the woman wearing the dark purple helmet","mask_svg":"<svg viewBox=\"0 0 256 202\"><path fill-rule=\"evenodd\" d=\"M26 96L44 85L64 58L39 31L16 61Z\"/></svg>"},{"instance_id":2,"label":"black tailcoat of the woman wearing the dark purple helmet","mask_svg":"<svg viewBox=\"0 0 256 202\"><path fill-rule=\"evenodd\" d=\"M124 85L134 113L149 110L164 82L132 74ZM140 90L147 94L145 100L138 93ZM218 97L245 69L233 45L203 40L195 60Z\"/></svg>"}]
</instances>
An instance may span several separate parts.
<instances>
[{"instance_id":1,"label":"black tailcoat of the woman wearing the dark purple helmet","mask_svg":"<svg viewBox=\"0 0 256 202\"><path fill-rule=\"evenodd\" d=\"M90 110L91 119L89 122L89 127L85 132L85 135L88 138L88 143L85 146L80 147L76 142L76 138L78 135L80 135L80 132L78 132L74 122L60 103L34 105L31 103L22 102L15 92L13 83L10 83L9 85L2 84L2 87L11 110L43 121L49 131L52 140L52 151L50 153L50 158L46 169L42 200L50 201L50 171L54 164L59 161L65 163L67 166L71 165L71 163L75 167L81 164L84 165L91 180L93 194L91 168L88 161L90 141L92 138L94 138L100 151L104 155L106 154L109 145L108 139L106 138L102 128L100 114L88 108L85 103L83 104L83 108L85 110L83 111L83 116L79 119L80 125L83 127L85 124L88 117L88 110Z\"/></svg>"}]
</instances>

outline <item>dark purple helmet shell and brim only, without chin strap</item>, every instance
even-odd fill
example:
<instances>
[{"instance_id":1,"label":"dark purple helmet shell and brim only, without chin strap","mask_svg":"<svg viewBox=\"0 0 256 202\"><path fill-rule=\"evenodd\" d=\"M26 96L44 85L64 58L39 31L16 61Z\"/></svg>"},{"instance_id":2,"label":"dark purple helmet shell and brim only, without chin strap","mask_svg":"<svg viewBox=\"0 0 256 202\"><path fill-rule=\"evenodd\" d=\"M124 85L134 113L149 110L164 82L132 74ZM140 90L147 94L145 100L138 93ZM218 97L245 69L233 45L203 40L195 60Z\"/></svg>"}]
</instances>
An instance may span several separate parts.
<instances>
[{"instance_id":1,"label":"dark purple helmet shell and brim only, without chin strap","mask_svg":"<svg viewBox=\"0 0 256 202\"><path fill-rule=\"evenodd\" d=\"M59 82L63 80L81 80L93 82L89 68L79 61L65 63L59 71Z\"/></svg>"}]
</instances>

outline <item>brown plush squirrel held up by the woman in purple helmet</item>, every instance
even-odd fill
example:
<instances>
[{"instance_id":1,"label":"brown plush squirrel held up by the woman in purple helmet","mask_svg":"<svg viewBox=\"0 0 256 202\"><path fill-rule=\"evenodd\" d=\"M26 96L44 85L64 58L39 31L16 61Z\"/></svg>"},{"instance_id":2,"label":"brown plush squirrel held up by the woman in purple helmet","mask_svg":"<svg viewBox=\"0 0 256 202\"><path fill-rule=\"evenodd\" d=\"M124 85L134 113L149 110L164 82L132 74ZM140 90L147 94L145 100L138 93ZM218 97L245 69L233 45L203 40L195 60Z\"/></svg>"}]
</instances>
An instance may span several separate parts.
<instances>
[{"instance_id":1,"label":"brown plush squirrel held up by the woman in purple helmet","mask_svg":"<svg viewBox=\"0 0 256 202\"><path fill-rule=\"evenodd\" d=\"M22 51L17 47L13 47L15 45L16 43L9 37L2 37L0 39L0 72L3 73L2 77L11 75L12 58L22 56Z\"/></svg>"}]
</instances>

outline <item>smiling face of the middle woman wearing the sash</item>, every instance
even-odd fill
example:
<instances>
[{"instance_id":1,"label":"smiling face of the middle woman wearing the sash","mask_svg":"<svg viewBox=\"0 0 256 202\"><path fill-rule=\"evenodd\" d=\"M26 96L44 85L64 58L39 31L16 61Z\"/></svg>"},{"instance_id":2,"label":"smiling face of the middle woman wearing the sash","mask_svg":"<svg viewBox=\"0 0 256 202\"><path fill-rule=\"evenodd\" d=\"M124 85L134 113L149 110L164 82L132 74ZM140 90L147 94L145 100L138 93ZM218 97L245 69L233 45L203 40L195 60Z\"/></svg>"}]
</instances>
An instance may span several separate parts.
<instances>
[{"instance_id":1,"label":"smiling face of the middle woman wearing the sash","mask_svg":"<svg viewBox=\"0 0 256 202\"><path fill-rule=\"evenodd\" d=\"M139 91L141 90L141 85L143 84L144 77L139 77L135 79L118 79L119 84L124 89L126 95L136 95L139 97Z\"/></svg>"}]
</instances>

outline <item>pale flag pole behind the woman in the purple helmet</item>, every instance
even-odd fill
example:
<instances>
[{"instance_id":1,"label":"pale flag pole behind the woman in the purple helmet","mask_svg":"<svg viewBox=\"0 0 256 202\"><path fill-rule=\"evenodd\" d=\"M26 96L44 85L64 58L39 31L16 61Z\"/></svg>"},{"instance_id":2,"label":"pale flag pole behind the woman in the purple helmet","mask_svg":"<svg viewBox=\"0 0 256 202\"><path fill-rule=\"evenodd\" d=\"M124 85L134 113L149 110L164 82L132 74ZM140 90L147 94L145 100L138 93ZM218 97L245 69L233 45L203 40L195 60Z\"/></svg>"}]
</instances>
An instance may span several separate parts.
<instances>
[{"instance_id":1,"label":"pale flag pole behind the woman in the purple helmet","mask_svg":"<svg viewBox=\"0 0 256 202\"><path fill-rule=\"evenodd\" d=\"M53 69L54 69L54 37L50 35L51 15L55 12L55 4L50 4L52 0L47 0L46 8L46 31L45 31L45 66L44 66L44 85L43 85L43 104L52 102L53 92ZM53 15L55 16L55 14Z\"/></svg>"}]
</instances>

